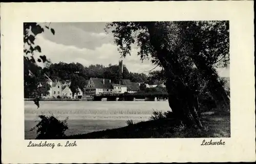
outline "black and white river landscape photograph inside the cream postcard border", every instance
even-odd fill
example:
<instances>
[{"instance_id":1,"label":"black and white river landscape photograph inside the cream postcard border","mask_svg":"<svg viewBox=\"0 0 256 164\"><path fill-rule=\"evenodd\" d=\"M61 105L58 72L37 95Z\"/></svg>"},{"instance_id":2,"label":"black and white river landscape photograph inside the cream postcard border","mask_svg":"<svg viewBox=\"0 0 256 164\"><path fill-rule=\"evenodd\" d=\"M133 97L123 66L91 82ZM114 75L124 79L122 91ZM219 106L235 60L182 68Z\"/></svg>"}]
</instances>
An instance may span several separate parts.
<instances>
[{"instance_id":1,"label":"black and white river landscape photograph inside the cream postcard border","mask_svg":"<svg viewBox=\"0 0 256 164\"><path fill-rule=\"evenodd\" d=\"M229 138L229 21L25 22L25 139Z\"/></svg>"}]
</instances>

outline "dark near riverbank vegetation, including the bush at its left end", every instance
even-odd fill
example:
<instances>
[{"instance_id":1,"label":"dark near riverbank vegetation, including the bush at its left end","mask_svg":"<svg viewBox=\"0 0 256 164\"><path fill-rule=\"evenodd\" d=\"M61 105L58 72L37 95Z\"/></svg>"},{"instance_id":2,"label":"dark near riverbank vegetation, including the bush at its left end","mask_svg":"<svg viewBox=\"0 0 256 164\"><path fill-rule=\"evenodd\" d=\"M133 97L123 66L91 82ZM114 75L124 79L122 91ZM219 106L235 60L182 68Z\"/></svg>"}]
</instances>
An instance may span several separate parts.
<instances>
[{"instance_id":1,"label":"dark near riverbank vegetation, including the bush at its left end","mask_svg":"<svg viewBox=\"0 0 256 164\"><path fill-rule=\"evenodd\" d=\"M31 130L37 129L36 139L125 139L125 138L227 138L230 137L230 116L218 111L202 113L204 130L186 127L173 117L172 112L154 111L150 120L136 124L127 120L127 126L95 131L86 134L66 135L66 118L63 121L52 116L38 116L41 121Z\"/></svg>"}]
</instances>

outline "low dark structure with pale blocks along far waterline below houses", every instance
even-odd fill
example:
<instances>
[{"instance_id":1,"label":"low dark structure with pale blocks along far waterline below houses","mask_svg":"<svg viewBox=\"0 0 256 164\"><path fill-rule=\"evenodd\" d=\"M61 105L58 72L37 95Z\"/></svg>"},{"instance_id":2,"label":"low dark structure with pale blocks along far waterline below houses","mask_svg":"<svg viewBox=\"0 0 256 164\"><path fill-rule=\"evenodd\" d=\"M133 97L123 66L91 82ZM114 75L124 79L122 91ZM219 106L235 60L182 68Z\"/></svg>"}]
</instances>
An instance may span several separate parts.
<instances>
[{"instance_id":1,"label":"low dark structure with pale blocks along far waterline below houses","mask_svg":"<svg viewBox=\"0 0 256 164\"><path fill-rule=\"evenodd\" d=\"M167 93L113 93L92 95L93 101L136 101L136 99L145 99L145 101L157 101L168 98Z\"/></svg>"}]
</instances>

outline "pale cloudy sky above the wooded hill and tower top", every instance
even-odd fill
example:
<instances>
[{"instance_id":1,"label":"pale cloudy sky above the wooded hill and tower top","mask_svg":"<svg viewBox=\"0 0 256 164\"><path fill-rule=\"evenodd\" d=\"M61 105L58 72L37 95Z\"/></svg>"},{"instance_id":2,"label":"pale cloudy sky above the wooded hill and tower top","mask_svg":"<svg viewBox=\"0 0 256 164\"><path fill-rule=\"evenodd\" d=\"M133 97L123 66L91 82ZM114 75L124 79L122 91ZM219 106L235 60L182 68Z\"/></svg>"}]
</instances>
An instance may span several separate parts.
<instances>
[{"instance_id":1,"label":"pale cloudy sky above the wooded hill and tower top","mask_svg":"<svg viewBox=\"0 0 256 164\"><path fill-rule=\"evenodd\" d=\"M45 30L36 36L35 44L41 47L41 53L46 55L52 63L78 62L84 66L91 64L118 64L123 60L130 72L147 74L154 65L148 60L140 61L137 47L132 47L131 56L121 59L121 55L114 44L111 33L104 31L106 22L52 22L40 23L49 25L55 30L53 35ZM229 69L218 69L220 76L229 77Z\"/></svg>"}]
</instances>

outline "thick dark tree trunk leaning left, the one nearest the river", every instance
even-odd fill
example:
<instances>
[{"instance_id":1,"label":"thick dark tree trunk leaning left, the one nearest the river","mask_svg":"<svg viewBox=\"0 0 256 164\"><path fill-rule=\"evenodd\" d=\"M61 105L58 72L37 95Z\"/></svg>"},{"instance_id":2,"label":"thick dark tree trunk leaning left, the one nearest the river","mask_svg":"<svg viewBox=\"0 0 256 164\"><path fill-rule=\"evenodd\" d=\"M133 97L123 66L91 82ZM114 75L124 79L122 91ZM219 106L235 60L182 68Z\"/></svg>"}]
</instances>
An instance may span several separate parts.
<instances>
[{"instance_id":1,"label":"thick dark tree trunk leaning left, the one nearest the river","mask_svg":"<svg viewBox=\"0 0 256 164\"><path fill-rule=\"evenodd\" d=\"M177 56L171 53L162 45L161 32L154 22L146 22L146 27L150 34L150 42L154 47L157 58L165 69L167 77L166 89L168 92L168 102L175 117L181 120L186 126L197 126L202 128L201 120L198 116L197 106L195 105L195 93L184 84L182 79L182 68L178 63Z\"/></svg>"}]
</instances>

